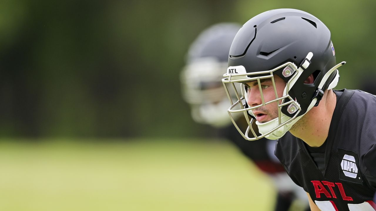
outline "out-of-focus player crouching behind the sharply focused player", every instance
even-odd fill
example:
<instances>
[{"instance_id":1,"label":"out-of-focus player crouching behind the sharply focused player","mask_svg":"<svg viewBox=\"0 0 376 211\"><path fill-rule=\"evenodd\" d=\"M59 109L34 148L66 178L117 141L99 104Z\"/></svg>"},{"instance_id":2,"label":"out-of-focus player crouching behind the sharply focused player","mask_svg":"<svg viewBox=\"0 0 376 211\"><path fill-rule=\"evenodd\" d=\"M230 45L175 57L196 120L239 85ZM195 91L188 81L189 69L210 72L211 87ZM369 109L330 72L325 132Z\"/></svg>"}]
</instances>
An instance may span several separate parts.
<instances>
[{"instance_id":1,"label":"out-of-focus player crouching behind the sharply focused player","mask_svg":"<svg viewBox=\"0 0 376 211\"><path fill-rule=\"evenodd\" d=\"M221 137L231 140L259 169L271 176L278 192L274 210L308 210L305 192L291 181L274 155L276 141L244 140L227 113L229 101L221 78L227 69L232 40L239 29L240 25L234 23L216 24L204 30L191 44L181 73L183 98L191 106L194 121L211 125ZM244 118L236 121L239 127L246 128Z\"/></svg>"}]
</instances>

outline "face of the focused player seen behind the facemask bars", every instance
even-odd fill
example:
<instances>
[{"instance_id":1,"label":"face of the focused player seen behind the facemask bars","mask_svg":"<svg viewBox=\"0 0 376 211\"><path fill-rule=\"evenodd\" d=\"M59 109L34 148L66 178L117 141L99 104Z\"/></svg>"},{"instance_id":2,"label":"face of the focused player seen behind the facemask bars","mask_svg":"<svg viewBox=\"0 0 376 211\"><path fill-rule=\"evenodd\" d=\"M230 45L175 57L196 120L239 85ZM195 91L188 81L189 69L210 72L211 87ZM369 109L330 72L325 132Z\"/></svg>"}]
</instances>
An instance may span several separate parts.
<instances>
[{"instance_id":1,"label":"face of the focused player seen behind the facemask bars","mask_svg":"<svg viewBox=\"0 0 376 211\"><path fill-rule=\"evenodd\" d=\"M273 99L276 99L276 95L274 93L273 83L271 79L268 78L268 79L260 80L260 82L261 82L262 94L264 95L264 101L268 102ZM286 83L277 75L274 76L274 82L276 85L277 95L278 97L281 97L285 89ZM248 105L250 107L261 105L262 101L261 101L261 95L260 95L257 81L246 83L245 86L247 88ZM255 115L255 118L258 122L264 123L272 119L275 119L278 117L277 102L273 102L265 106L259 107L257 109L253 109L252 113L253 115Z\"/></svg>"}]
</instances>

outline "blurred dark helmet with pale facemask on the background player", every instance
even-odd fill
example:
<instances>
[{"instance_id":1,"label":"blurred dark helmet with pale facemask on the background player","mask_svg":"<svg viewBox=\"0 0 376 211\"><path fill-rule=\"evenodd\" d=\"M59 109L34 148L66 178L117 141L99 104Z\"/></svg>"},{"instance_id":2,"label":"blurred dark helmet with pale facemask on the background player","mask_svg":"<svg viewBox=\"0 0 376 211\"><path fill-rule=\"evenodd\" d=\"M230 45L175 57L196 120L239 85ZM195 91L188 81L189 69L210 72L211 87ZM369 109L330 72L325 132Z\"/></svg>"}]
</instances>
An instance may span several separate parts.
<instances>
[{"instance_id":1,"label":"blurred dark helmet with pale facemask on the background player","mask_svg":"<svg viewBox=\"0 0 376 211\"><path fill-rule=\"evenodd\" d=\"M223 127L231 123L229 101L221 79L229 50L240 25L220 23L204 30L191 44L181 73L183 98L191 106L194 121ZM235 96L231 96L236 98Z\"/></svg>"}]
</instances>

